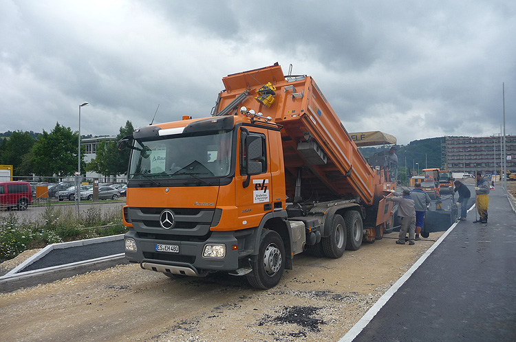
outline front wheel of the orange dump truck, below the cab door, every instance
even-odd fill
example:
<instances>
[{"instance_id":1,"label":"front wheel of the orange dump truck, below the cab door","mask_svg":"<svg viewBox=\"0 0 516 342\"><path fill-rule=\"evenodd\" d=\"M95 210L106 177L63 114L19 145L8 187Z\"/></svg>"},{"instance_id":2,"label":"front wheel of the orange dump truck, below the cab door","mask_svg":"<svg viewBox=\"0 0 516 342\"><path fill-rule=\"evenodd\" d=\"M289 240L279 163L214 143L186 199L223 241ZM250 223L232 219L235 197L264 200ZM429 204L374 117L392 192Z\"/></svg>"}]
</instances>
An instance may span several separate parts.
<instances>
[{"instance_id":1,"label":"front wheel of the orange dump truck, below the cab door","mask_svg":"<svg viewBox=\"0 0 516 342\"><path fill-rule=\"evenodd\" d=\"M258 255L251 260L252 272L246 275L255 288L268 289L276 286L285 270L285 247L279 234L264 230L261 234Z\"/></svg>"}]
</instances>

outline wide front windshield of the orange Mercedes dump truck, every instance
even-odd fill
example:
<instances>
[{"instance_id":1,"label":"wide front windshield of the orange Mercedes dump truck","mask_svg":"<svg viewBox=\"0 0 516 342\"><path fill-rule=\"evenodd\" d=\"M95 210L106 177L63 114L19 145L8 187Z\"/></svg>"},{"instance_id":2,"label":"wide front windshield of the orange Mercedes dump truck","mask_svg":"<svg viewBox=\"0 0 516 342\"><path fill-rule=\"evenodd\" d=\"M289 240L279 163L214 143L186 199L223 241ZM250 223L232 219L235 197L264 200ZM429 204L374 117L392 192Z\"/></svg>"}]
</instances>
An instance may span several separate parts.
<instances>
[{"instance_id":1,"label":"wide front windshield of the orange Mercedes dump truck","mask_svg":"<svg viewBox=\"0 0 516 342\"><path fill-rule=\"evenodd\" d=\"M228 176L232 130L137 140L129 179Z\"/></svg>"}]
</instances>

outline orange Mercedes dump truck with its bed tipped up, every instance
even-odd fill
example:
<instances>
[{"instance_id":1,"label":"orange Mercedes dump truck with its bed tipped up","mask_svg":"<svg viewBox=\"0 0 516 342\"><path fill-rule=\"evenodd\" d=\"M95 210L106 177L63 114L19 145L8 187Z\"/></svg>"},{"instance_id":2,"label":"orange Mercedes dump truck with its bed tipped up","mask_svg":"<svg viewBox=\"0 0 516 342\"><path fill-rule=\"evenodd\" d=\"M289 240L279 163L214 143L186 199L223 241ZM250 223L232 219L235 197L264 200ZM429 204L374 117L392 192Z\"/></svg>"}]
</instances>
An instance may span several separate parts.
<instances>
[{"instance_id":1,"label":"orange Mercedes dump truck with its bed tipped up","mask_svg":"<svg viewBox=\"0 0 516 342\"><path fill-rule=\"evenodd\" d=\"M340 258L391 227L385 160L369 165L310 76L227 76L211 117L138 128L125 254L169 277L215 271L278 284L308 249Z\"/></svg>"}]
</instances>

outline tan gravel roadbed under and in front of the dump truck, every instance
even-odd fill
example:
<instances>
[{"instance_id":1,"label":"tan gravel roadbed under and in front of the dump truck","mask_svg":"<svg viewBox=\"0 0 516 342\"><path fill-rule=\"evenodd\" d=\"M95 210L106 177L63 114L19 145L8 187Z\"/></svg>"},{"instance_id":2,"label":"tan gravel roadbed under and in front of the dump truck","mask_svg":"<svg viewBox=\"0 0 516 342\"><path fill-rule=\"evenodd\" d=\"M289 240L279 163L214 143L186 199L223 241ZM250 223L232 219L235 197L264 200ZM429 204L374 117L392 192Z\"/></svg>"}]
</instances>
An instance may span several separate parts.
<instances>
[{"instance_id":1,"label":"tan gravel roadbed under and in front of the dump truck","mask_svg":"<svg viewBox=\"0 0 516 342\"><path fill-rule=\"evenodd\" d=\"M177 280L129 264L2 293L1 339L338 341L442 232L414 246L395 244L396 235L339 259L296 255L270 290L242 277Z\"/></svg>"}]
</instances>

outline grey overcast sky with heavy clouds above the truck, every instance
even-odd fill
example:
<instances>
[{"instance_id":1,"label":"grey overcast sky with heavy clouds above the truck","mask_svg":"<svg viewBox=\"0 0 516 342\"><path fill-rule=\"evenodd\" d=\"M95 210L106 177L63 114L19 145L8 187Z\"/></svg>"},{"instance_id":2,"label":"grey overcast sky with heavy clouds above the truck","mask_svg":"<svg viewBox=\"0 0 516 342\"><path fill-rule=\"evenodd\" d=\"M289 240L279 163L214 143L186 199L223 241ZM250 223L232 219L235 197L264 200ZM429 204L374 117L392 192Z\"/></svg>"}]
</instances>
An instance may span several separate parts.
<instances>
[{"instance_id":1,"label":"grey overcast sky with heavy clouds above the truck","mask_svg":"<svg viewBox=\"0 0 516 342\"><path fill-rule=\"evenodd\" d=\"M0 132L209 116L222 77L313 76L349 132L516 134L516 1L0 0Z\"/></svg>"}]
</instances>

